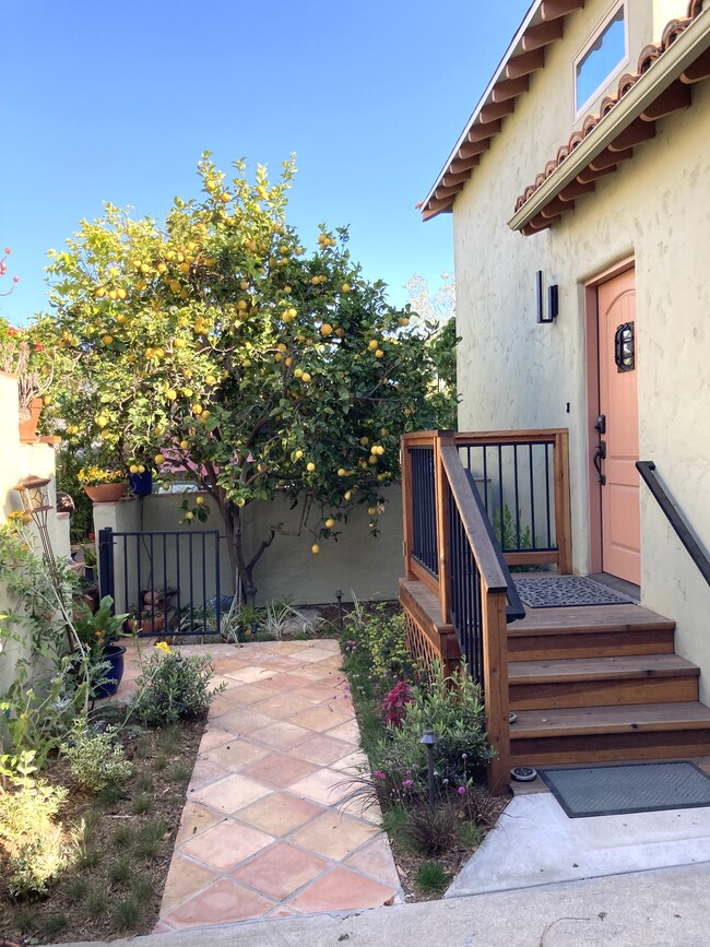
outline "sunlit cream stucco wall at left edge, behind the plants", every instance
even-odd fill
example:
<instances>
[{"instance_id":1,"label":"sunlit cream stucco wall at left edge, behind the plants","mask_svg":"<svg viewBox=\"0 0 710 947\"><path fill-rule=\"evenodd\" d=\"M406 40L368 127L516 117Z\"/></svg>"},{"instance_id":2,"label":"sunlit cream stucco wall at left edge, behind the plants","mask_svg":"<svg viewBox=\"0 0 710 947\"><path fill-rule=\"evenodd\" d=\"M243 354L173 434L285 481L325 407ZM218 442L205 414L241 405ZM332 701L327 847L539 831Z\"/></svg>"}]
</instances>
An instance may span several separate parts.
<instances>
[{"instance_id":1,"label":"sunlit cream stucco wall at left edge, behind the plants","mask_svg":"<svg viewBox=\"0 0 710 947\"><path fill-rule=\"evenodd\" d=\"M55 451L47 443L21 443L17 429L17 381L0 371L0 524L5 523L13 510L22 509L22 504L13 489L16 483L31 474L50 477L51 501L55 498ZM49 537L58 557L68 557L69 519L50 514L48 520ZM37 538L37 548L40 549ZM7 590L0 584L0 612L13 606ZM21 646L9 642L0 653L0 694L4 694L12 683L13 670L21 653Z\"/></svg>"}]
</instances>

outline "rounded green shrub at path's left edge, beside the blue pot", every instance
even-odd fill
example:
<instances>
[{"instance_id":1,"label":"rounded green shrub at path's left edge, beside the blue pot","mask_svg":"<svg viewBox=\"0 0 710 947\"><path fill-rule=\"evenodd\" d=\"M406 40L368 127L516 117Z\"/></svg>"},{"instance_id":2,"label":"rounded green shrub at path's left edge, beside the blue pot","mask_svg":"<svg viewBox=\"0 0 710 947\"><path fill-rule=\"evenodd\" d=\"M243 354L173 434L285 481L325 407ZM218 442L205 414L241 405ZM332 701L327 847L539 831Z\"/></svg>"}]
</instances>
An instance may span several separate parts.
<instances>
[{"instance_id":1,"label":"rounded green shrub at path's left edge, beside the blue pot","mask_svg":"<svg viewBox=\"0 0 710 947\"><path fill-rule=\"evenodd\" d=\"M204 718L211 700L224 689L210 693L213 674L209 655L184 658L167 646L159 651L155 649L138 679L133 713L149 726Z\"/></svg>"}]
</instances>

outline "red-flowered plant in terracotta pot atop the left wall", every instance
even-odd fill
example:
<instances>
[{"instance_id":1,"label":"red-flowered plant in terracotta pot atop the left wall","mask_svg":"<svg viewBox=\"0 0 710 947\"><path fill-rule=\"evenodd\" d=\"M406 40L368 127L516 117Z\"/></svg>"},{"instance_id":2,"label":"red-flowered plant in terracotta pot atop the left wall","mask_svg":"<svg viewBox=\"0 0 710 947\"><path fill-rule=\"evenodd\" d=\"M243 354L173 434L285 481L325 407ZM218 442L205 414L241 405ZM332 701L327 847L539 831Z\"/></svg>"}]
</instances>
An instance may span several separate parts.
<instances>
[{"instance_id":1,"label":"red-flowered plant in terracotta pot atop the left wall","mask_svg":"<svg viewBox=\"0 0 710 947\"><path fill-rule=\"evenodd\" d=\"M20 439L35 440L55 369L55 357L38 340L36 325L17 329L0 319L0 368L17 378Z\"/></svg>"}]
</instances>

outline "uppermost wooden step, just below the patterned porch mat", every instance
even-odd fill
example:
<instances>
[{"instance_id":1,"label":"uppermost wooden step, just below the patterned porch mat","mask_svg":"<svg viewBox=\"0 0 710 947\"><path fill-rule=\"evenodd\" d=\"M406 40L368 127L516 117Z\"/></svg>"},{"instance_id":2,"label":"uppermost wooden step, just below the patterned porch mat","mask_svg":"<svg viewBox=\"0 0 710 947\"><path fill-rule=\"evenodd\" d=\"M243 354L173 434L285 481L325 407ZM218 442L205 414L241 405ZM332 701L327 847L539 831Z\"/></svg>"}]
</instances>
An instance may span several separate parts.
<instances>
[{"instance_id":1,"label":"uppermost wooden step, just below the patterned porch mat","mask_svg":"<svg viewBox=\"0 0 710 947\"><path fill-rule=\"evenodd\" d=\"M640 605L525 608L508 626L510 661L673 654L675 623Z\"/></svg>"}]
</instances>

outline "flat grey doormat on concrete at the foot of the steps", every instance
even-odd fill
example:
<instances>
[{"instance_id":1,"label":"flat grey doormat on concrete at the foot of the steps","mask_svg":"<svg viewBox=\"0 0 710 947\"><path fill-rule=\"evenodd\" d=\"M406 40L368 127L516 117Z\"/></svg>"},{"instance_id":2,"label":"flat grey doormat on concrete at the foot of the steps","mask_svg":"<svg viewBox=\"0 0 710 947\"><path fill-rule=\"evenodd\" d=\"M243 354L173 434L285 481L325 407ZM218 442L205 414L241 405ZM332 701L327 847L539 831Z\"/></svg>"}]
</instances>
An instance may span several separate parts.
<instances>
[{"instance_id":1,"label":"flat grey doormat on concrete at the foot of the steps","mask_svg":"<svg viewBox=\"0 0 710 947\"><path fill-rule=\"evenodd\" d=\"M694 762L541 769L570 819L710 806L710 778Z\"/></svg>"}]
</instances>

